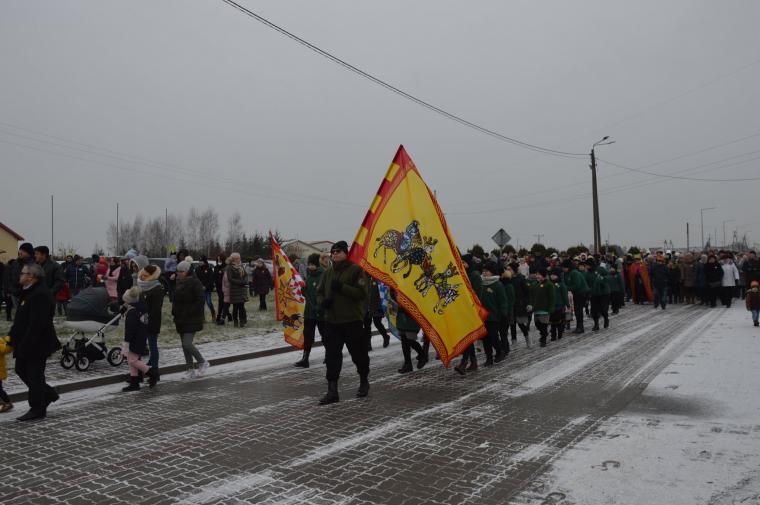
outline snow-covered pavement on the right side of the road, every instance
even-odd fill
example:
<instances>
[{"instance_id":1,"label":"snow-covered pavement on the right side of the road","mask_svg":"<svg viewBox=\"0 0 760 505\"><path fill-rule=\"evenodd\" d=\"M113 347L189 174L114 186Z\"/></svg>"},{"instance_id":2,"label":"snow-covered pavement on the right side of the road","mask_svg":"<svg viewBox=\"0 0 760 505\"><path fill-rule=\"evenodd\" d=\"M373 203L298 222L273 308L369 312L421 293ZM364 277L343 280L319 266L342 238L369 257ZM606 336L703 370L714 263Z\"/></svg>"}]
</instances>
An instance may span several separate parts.
<instances>
[{"instance_id":1,"label":"snow-covered pavement on the right side of the road","mask_svg":"<svg viewBox=\"0 0 760 505\"><path fill-rule=\"evenodd\" d=\"M741 305L553 463L551 503L760 503L760 328Z\"/></svg>"}]
</instances>

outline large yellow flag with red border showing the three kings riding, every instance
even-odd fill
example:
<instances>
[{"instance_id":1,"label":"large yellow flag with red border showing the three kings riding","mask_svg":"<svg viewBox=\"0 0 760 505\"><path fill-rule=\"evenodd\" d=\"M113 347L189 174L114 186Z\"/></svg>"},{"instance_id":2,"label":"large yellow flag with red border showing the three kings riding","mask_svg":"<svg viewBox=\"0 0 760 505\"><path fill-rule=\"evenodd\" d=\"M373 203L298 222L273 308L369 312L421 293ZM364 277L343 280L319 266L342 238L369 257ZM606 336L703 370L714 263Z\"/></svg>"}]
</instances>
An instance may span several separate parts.
<instances>
[{"instance_id":1,"label":"large yellow flag with red border showing the three kings riding","mask_svg":"<svg viewBox=\"0 0 760 505\"><path fill-rule=\"evenodd\" d=\"M396 290L445 366L486 333L480 305L443 212L414 162L399 147L349 255Z\"/></svg>"}]
</instances>

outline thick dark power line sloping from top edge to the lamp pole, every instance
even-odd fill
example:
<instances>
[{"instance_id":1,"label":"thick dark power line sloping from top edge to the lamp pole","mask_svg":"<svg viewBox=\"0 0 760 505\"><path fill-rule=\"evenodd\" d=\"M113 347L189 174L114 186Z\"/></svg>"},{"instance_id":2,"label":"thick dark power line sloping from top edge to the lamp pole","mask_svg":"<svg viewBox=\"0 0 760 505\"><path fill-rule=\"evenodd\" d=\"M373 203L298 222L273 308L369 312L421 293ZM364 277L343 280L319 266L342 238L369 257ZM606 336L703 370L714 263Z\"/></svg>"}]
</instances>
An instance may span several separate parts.
<instances>
[{"instance_id":1,"label":"thick dark power line sloping from top edge to the lamp pole","mask_svg":"<svg viewBox=\"0 0 760 505\"><path fill-rule=\"evenodd\" d=\"M222 0L222 2L226 3L227 5L230 5L231 7L234 7L235 9L239 10L240 12L246 14L247 16L255 19L256 21L266 25L267 27L271 28L272 30L275 30L276 32L285 35L286 37L294 40L295 42L301 44L302 46L306 47L307 49L310 49L311 51L314 51L315 53L319 54L320 56L323 56L327 58L328 60L332 61L333 63L336 63L340 65L341 67L345 68L346 70L349 70L360 77L363 77L379 86L382 86L383 88L387 89L388 91L391 91L393 93L396 93L397 95L416 103L417 105L420 105L422 107L425 107L426 109L435 112L436 114L439 114L447 119L450 119L452 121L455 121L463 126L466 126L468 128L472 128L473 130L479 131L480 133L484 133L486 135L489 135L497 140L501 140L503 142L508 142L510 144L513 144L518 147L522 147L524 149L529 149L531 151L548 154L550 156L559 156L559 157L565 157L565 158L578 158L578 157L585 157L587 156L585 153L571 153L567 151L559 151L556 149L550 149L548 147L542 147L536 144L531 144L528 142L524 142L522 140L518 140L513 137L508 137L507 135L501 134L499 132L496 132L494 130L491 130L489 128L486 128L484 126L480 126L476 123L473 123L471 121L468 121L464 119L461 116L458 116L456 114L453 114L451 112L448 112L440 107L437 107L430 102L426 102L425 100L418 98L411 93L407 93L406 91L397 88L396 86L393 86L392 84L389 84L388 82L380 79L379 77L375 77L374 75L365 72L364 70L359 69L358 67L352 65L351 63L348 63L347 61L338 58L337 56L333 55L332 53L321 49L311 42L308 42L298 35L295 35L292 32L289 32L285 28L282 28L279 25L274 24L273 22L269 21L268 19L264 18L263 16L260 16L259 14L256 14L255 12L243 7L237 2L234 2L233 0Z\"/></svg>"}]
</instances>

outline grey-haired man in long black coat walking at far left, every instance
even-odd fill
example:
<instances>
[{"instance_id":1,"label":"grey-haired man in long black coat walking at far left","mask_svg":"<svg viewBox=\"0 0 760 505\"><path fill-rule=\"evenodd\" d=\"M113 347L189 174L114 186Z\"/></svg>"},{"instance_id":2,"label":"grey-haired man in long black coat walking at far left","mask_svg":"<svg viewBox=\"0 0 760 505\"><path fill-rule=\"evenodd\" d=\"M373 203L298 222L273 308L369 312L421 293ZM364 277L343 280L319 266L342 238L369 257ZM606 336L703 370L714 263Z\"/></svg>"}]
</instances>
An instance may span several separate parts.
<instances>
[{"instance_id":1,"label":"grey-haired man in long black coat walking at far left","mask_svg":"<svg viewBox=\"0 0 760 505\"><path fill-rule=\"evenodd\" d=\"M45 285L40 265L26 264L21 269L21 303L10 330L16 374L29 388L29 412L19 421L44 419L48 405L58 393L45 382L47 358L61 347L53 327L55 302Z\"/></svg>"}]
</instances>

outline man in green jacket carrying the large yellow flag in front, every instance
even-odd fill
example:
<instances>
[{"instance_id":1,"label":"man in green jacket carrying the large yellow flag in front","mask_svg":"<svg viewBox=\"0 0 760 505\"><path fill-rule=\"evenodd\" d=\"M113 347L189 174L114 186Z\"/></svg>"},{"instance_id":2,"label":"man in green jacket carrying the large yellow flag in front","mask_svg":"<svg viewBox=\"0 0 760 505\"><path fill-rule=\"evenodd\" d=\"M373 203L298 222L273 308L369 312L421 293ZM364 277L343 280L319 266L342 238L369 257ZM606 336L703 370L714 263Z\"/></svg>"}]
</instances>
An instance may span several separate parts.
<instances>
[{"instance_id":1,"label":"man in green jacket carrying the large yellow flag in front","mask_svg":"<svg viewBox=\"0 0 760 505\"><path fill-rule=\"evenodd\" d=\"M320 405L335 403L338 378L343 366L343 345L359 374L358 398L369 394L369 354L364 335L364 309L367 298L367 277L364 271L348 261L348 244L341 240L330 250L333 264L322 275L317 286L317 302L325 314L325 360L327 361L327 394Z\"/></svg>"}]
</instances>

